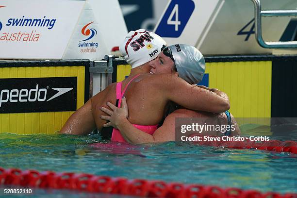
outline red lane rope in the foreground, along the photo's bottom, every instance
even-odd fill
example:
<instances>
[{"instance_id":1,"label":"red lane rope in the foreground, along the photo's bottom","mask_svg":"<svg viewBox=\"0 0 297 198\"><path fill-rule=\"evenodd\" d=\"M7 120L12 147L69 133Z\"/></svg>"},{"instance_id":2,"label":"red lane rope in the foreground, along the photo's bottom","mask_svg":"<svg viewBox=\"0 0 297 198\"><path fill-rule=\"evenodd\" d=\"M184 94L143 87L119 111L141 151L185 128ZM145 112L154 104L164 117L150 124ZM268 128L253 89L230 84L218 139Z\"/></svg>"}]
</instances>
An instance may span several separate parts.
<instances>
[{"instance_id":1,"label":"red lane rope in the foreground, along the photo's bottom","mask_svg":"<svg viewBox=\"0 0 297 198\"><path fill-rule=\"evenodd\" d=\"M164 181L128 180L84 173L4 169L0 167L0 185L32 188L78 190L157 198L297 198L297 194L261 193L257 190L220 188L197 184L166 183Z\"/></svg>"}]
</instances>

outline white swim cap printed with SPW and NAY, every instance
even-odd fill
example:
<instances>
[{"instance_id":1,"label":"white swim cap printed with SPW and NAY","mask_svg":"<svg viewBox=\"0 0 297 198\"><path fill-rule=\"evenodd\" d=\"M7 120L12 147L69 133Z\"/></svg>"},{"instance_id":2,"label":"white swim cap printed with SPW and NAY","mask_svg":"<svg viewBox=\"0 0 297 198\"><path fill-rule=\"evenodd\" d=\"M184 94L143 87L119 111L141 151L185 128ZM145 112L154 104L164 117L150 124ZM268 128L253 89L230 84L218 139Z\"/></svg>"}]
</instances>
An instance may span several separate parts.
<instances>
[{"instance_id":1,"label":"white swim cap printed with SPW and NAY","mask_svg":"<svg viewBox=\"0 0 297 198\"><path fill-rule=\"evenodd\" d=\"M135 68L156 58L163 45L167 44L159 35L139 29L128 33L119 49L127 63Z\"/></svg>"}]
</instances>

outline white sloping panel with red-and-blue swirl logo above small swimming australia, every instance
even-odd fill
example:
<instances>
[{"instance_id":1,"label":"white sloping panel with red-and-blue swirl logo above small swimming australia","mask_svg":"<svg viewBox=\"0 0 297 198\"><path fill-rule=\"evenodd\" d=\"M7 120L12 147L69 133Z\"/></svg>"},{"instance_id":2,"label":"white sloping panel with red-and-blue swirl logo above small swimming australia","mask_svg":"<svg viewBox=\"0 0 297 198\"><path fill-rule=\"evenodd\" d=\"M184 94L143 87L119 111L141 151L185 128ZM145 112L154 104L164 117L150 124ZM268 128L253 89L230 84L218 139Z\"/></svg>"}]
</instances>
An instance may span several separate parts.
<instances>
[{"instance_id":1,"label":"white sloping panel with red-and-blue swirl logo above small swimming australia","mask_svg":"<svg viewBox=\"0 0 297 198\"><path fill-rule=\"evenodd\" d=\"M63 59L101 60L127 33L117 0L87 0Z\"/></svg>"}]
</instances>

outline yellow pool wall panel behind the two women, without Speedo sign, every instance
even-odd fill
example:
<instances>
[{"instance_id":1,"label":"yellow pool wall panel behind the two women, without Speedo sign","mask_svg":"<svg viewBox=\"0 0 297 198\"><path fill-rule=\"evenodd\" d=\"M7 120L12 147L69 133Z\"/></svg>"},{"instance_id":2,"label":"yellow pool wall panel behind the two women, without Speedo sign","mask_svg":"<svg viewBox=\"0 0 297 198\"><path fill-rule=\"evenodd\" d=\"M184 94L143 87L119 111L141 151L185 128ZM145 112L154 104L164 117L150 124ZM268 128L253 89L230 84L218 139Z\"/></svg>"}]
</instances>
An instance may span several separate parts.
<instances>
[{"instance_id":1,"label":"yellow pool wall panel behind the two women, without Speedo sign","mask_svg":"<svg viewBox=\"0 0 297 198\"><path fill-rule=\"evenodd\" d=\"M130 74L130 65L117 65L116 82ZM209 87L225 92L234 117L271 116L271 61L206 63Z\"/></svg>"}]
</instances>

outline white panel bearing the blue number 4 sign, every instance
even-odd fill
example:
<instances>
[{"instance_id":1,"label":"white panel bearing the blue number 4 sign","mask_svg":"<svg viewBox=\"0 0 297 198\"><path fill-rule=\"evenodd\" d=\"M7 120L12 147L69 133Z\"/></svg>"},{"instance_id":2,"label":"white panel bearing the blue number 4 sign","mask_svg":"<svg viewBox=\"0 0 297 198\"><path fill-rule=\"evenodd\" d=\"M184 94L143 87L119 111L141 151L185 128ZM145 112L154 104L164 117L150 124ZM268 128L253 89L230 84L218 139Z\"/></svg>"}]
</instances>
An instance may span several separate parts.
<instances>
[{"instance_id":1,"label":"white panel bearing the blue number 4 sign","mask_svg":"<svg viewBox=\"0 0 297 198\"><path fill-rule=\"evenodd\" d=\"M168 45L196 46L208 33L224 0L171 0L154 32Z\"/></svg>"}]
</instances>

